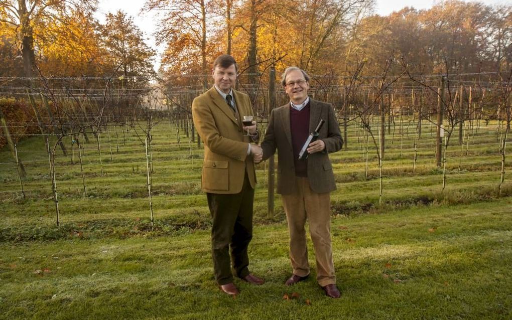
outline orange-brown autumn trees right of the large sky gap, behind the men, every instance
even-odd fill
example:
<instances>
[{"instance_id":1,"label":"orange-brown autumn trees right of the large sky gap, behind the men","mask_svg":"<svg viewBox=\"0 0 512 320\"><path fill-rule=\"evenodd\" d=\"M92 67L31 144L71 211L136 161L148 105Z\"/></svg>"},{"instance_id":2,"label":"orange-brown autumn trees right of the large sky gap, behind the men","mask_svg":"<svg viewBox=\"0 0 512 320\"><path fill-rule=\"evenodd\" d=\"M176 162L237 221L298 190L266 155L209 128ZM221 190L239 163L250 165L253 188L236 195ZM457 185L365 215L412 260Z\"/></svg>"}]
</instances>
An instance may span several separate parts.
<instances>
[{"instance_id":1,"label":"orange-brown autumn trees right of the large sky gap, behind the men","mask_svg":"<svg viewBox=\"0 0 512 320\"><path fill-rule=\"evenodd\" d=\"M150 0L162 14L159 40L167 45L162 69L173 83L206 79L219 53L241 62L249 84L275 62L310 74L380 75L404 67L415 74L498 72L512 61L512 6L444 1L431 9L404 8L374 15L368 0ZM192 12L194 14L189 14ZM279 78L279 77L278 77ZM195 82L193 82L195 81Z\"/></svg>"}]
</instances>

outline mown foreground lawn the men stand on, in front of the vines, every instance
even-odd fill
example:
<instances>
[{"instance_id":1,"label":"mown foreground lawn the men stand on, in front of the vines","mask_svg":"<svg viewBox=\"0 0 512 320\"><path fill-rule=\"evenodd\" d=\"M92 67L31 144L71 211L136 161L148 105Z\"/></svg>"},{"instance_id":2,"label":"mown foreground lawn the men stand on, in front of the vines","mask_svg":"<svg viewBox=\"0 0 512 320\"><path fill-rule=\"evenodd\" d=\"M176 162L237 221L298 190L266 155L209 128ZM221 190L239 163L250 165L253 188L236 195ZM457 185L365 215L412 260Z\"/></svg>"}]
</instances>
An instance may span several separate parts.
<instances>
[{"instance_id":1,"label":"mown foreground lawn the men stand on, in front of the vines","mask_svg":"<svg viewBox=\"0 0 512 320\"><path fill-rule=\"evenodd\" d=\"M333 217L339 300L316 284L311 246L312 276L283 285L290 272L284 223L255 227L251 269L266 283L237 279L234 299L215 285L208 230L2 243L0 317L507 319L511 207L504 198Z\"/></svg>"}]
</instances>

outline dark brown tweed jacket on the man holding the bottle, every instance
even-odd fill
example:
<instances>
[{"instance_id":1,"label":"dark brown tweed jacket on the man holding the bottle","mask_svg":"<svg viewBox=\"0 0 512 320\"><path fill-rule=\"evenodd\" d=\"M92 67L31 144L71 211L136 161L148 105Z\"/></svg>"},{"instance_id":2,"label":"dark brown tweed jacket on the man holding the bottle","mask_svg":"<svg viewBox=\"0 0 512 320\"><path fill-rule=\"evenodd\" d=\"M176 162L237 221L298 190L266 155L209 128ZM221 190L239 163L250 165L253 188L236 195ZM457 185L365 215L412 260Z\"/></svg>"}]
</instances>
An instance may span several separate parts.
<instances>
[{"instance_id":1,"label":"dark brown tweed jacket on the man holding the bottle","mask_svg":"<svg viewBox=\"0 0 512 320\"><path fill-rule=\"evenodd\" d=\"M318 139L325 143L325 150L309 155L308 180L314 193L328 193L336 189L329 153L340 150L343 138L339 131L334 109L330 103L310 98L309 133L315 130L320 119L325 124L319 132ZM289 195L297 191L293 148L290 129L290 103L272 110L268 120L267 132L261 144L263 160L268 159L278 149L278 194Z\"/></svg>"}]
</instances>

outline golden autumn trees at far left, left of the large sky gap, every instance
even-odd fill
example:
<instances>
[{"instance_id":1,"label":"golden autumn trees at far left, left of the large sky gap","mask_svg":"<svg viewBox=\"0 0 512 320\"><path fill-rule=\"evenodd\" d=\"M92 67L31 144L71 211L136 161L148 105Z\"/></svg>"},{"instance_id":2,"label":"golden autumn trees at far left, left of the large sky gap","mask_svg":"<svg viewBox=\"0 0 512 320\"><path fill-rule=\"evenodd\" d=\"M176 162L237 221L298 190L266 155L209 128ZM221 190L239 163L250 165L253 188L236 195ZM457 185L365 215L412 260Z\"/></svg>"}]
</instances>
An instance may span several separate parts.
<instances>
[{"instance_id":1,"label":"golden autumn trees at far left, left of the large sky gap","mask_svg":"<svg viewBox=\"0 0 512 320\"><path fill-rule=\"evenodd\" d=\"M2 1L0 76L151 76L156 52L125 13L93 18L95 0Z\"/></svg>"}]
</instances>

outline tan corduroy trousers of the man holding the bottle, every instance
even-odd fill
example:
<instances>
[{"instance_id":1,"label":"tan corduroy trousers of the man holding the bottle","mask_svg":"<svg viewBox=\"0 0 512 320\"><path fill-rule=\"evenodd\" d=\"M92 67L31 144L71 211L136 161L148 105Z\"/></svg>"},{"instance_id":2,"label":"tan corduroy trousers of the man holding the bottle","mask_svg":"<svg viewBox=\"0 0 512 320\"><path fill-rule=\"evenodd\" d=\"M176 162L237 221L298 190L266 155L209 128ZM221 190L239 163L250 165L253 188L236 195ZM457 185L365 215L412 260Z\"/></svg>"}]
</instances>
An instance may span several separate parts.
<instances>
[{"instance_id":1,"label":"tan corduroy trousers of the man holding the bottle","mask_svg":"<svg viewBox=\"0 0 512 320\"><path fill-rule=\"evenodd\" d=\"M306 244L306 219L313 241L316 258L316 280L322 287L336 283L332 261L330 228L330 193L316 194L309 187L308 178L295 177L297 192L282 195L290 232L290 260L293 273L309 274L308 248Z\"/></svg>"}]
</instances>

